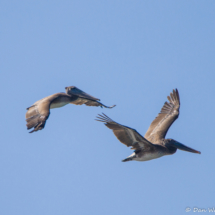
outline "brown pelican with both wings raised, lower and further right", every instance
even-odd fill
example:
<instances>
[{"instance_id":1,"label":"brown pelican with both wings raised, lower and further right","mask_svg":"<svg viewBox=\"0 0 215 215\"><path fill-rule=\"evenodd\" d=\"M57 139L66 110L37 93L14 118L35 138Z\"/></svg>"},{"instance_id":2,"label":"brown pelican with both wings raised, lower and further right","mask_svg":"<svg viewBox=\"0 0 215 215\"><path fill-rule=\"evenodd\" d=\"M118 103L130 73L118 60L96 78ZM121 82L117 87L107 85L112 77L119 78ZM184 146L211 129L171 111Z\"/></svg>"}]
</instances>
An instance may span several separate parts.
<instances>
[{"instance_id":1,"label":"brown pelican with both wings raised, lower and further right","mask_svg":"<svg viewBox=\"0 0 215 215\"><path fill-rule=\"evenodd\" d=\"M165 139L166 133L172 123L178 118L180 108L180 98L178 90L173 90L167 97L169 102L165 102L161 112L154 119L145 134L141 136L135 129L114 122L104 113L97 116L97 121L104 122L105 125L113 130L117 139L134 149L134 153L122 161L147 161L164 155L172 155L177 149L198 153L190 147L183 145L173 139Z\"/></svg>"}]
</instances>

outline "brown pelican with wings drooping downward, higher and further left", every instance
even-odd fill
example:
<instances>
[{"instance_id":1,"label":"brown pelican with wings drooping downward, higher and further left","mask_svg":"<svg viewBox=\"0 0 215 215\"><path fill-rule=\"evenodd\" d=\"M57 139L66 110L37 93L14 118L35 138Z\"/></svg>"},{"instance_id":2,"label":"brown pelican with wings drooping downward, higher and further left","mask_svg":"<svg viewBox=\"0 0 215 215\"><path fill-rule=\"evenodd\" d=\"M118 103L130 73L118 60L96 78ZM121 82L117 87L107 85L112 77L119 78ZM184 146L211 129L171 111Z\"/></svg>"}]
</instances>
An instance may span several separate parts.
<instances>
[{"instance_id":1,"label":"brown pelican with wings drooping downward, higher and further left","mask_svg":"<svg viewBox=\"0 0 215 215\"><path fill-rule=\"evenodd\" d=\"M34 128L31 132L41 130L45 127L46 120L49 118L50 109L63 107L67 104L82 105L87 106L100 106L105 108L113 108L105 106L102 104L100 99L97 99L77 87L65 87L66 93L56 93L51 96L47 96L37 102L35 102L31 107L27 108L27 113L25 115L27 121L27 129Z\"/></svg>"}]
</instances>

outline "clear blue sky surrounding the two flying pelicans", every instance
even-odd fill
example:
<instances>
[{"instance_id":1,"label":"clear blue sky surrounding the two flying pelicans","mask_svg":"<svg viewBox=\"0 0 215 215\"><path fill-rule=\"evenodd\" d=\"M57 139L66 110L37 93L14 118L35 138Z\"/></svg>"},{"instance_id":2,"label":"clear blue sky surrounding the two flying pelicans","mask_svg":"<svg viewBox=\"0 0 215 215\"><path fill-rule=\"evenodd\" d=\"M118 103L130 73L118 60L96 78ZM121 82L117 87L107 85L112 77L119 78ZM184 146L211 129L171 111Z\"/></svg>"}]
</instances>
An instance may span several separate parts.
<instances>
[{"instance_id":1,"label":"clear blue sky surrounding the two flying pelicans","mask_svg":"<svg viewBox=\"0 0 215 215\"><path fill-rule=\"evenodd\" d=\"M2 215L188 214L215 207L215 1L11 1L1 16ZM67 105L29 134L26 108L75 85L114 109ZM104 112L142 135L178 88L167 138L177 151L132 151ZM193 213L193 212L189 212Z\"/></svg>"}]
</instances>

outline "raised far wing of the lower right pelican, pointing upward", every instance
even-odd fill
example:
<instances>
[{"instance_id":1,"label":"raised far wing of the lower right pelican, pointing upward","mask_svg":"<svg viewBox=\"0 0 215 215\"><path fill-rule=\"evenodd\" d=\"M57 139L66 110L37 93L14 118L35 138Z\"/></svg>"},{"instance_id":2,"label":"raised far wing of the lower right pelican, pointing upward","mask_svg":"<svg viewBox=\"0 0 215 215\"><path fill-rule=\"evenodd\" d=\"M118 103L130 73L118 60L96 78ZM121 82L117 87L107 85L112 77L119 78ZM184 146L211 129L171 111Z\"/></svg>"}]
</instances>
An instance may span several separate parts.
<instances>
[{"instance_id":1,"label":"raised far wing of the lower right pelican, pointing upward","mask_svg":"<svg viewBox=\"0 0 215 215\"><path fill-rule=\"evenodd\" d=\"M161 139L165 138L169 127L179 116L180 98L178 90L173 90L167 98L169 102L164 103L161 112L145 134L145 138L152 143L159 143Z\"/></svg>"}]
</instances>

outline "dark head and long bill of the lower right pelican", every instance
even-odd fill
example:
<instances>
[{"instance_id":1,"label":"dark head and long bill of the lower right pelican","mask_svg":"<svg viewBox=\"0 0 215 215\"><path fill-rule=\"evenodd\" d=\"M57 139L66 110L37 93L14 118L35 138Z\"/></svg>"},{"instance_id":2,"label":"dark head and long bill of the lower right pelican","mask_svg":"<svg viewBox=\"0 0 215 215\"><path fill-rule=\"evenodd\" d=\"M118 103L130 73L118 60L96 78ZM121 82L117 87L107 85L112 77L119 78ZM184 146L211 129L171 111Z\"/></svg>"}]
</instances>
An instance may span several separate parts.
<instances>
[{"instance_id":1,"label":"dark head and long bill of the lower right pelican","mask_svg":"<svg viewBox=\"0 0 215 215\"><path fill-rule=\"evenodd\" d=\"M192 149L188 146L185 146L184 144L179 143L178 141L173 140L173 139L166 139L165 146L172 152L172 154L175 153L177 149L187 151L187 152L201 154L201 152L199 152L195 149Z\"/></svg>"}]
</instances>

